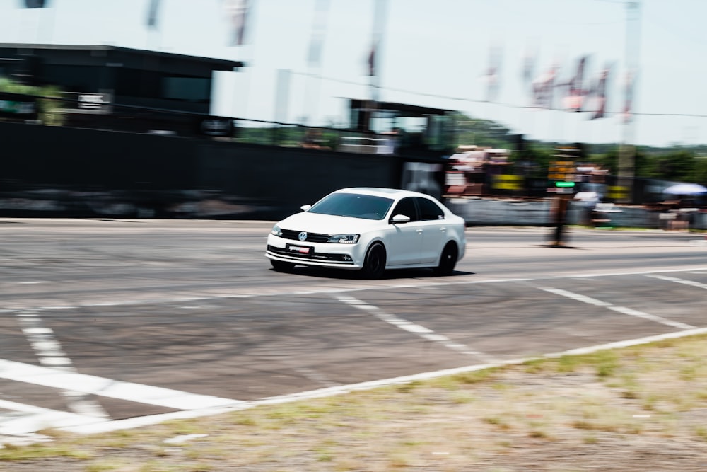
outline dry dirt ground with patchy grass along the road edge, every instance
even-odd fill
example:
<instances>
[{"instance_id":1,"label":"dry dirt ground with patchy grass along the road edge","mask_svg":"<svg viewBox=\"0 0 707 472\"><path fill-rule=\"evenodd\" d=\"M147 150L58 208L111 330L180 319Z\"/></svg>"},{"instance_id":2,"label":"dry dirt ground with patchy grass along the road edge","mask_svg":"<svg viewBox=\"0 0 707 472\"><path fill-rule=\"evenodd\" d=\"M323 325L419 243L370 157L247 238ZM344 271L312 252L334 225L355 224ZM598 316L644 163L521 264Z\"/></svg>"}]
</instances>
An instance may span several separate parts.
<instances>
[{"instance_id":1,"label":"dry dirt ground with patchy grass along the road edge","mask_svg":"<svg viewBox=\"0 0 707 472\"><path fill-rule=\"evenodd\" d=\"M707 471L707 338L0 449L12 472Z\"/></svg>"}]
</instances>

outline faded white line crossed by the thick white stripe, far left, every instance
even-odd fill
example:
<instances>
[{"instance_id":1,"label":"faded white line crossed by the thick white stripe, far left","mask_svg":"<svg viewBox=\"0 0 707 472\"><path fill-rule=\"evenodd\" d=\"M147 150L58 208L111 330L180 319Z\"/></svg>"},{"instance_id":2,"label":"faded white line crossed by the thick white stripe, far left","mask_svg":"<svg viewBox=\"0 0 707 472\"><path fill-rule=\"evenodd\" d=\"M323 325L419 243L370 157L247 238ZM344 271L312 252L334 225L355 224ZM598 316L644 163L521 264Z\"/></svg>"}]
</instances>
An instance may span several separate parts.
<instances>
[{"instance_id":1,"label":"faded white line crossed by the thick white stripe, far left","mask_svg":"<svg viewBox=\"0 0 707 472\"><path fill-rule=\"evenodd\" d=\"M54 331L52 328L44 326L42 318L37 313L34 311L18 311L15 315L40 364L65 372L76 372L71 359L62 350L62 345L59 344L56 336L54 336ZM103 406L86 395L86 393L75 391L69 388L70 386L66 387L61 392L62 396L66 398L66 405L70 410L82 416L110 418Z\"/></svg>"}]
</instances>

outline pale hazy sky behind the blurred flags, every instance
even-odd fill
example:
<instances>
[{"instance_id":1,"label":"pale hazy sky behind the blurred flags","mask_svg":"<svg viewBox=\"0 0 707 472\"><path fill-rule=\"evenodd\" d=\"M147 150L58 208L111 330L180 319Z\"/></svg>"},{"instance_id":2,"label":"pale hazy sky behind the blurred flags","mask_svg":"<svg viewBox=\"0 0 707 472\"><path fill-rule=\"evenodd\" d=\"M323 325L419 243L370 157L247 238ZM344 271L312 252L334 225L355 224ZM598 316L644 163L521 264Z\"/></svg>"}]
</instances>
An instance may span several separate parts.
<instances>
[{"instance_id":1,"label":"pale hazy sky behind the blurred flags","mask_svg":"<svg viewBox=\"0 0 707 472\"><path fill-rule=\"evenodd\" d=\"M251 0L245 44L236 46L227 1L160 0L149 28L151 0L47 0L47 8L32 9L21 8L23 0L0 0L0 42L245 61L238 72L215 74L212 114L346 125L345 98L373 96L368 55L375 37L380 100L457 110L527 139L707 144L707 1L633 0L629 19L626 0ZM322 25L322 53L312 64L315 24ZM491 57L493 96L484 77ZM532 81L523 78L527 57L534 58L535 81L552 67L558 81L568 81L587 57L583 88L606 68L605 117L533 107ZM633 119L625 124L630 70Z\"/></svg>"}]
</instances>

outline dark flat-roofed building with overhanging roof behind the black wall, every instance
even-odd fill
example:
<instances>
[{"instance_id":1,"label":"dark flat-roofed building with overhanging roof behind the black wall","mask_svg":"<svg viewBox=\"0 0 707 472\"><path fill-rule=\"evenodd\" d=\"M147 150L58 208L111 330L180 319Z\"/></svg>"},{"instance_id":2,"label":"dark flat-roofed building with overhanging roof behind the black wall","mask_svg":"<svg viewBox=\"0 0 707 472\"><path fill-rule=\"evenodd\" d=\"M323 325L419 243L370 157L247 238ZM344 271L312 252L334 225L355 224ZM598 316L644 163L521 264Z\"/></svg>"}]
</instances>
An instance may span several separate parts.
<instances>
[{"instance_id":1,"label":"dark flat-roofed building with overhanging roof behind the black wall","mask_svg":"<svg viewBox=\"0 0 707 472\"><path fill-rule=\"evenodd\" d=\"M59 88L68 125L81 125L88 114L93 125L144 131L154 128L145 121L157 120L158 110L159 120L168 121L170 113L208 115L213 72L240 67L240 61L117 46L0 44L0 77Z\"/></svg>"}]
</instances>

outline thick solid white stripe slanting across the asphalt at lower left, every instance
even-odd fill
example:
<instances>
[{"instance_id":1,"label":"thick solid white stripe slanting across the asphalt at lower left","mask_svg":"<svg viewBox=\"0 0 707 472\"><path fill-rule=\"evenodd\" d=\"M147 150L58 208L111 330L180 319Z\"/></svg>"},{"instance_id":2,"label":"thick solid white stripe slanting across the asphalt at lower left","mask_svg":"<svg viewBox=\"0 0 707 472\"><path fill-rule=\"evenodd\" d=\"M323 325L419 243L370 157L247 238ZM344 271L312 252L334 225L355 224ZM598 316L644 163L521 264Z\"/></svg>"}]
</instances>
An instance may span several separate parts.
<instances>
[{"instance_id":1,"label":"thick solid white stripe slanting across the asphalt at lower left","mask_svg":"<svg viewBox=\"0 0 707 472\"><path fill-rule=\"evenodd\" d=\"M230 398L198 395L170 388L133 384L132 382L105 379L76 372L64 372L58 369L4 359L0 359L0 378L52 388L70 388L72 391L145 403L146 405L164 406L177 410L197 410L199 408L241 403L241 401L231 400Z\"/></svg>"}]
</instances>

